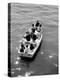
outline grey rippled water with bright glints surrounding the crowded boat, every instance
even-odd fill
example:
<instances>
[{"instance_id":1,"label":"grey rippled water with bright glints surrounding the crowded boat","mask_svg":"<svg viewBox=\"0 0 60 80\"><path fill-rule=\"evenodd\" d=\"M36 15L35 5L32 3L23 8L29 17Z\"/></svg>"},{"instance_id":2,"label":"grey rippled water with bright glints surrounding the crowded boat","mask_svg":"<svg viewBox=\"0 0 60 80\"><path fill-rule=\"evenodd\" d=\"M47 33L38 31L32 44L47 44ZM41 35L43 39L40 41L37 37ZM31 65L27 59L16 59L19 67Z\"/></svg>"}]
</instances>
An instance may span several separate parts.
<instances>
[{"instance_id":1,"label":"grey rippled water with bright glints surrounding the crowded boat","mask_svg":"<svg viewBox=\"0 0 60 80\"><path fill-rule=\"evenodd\" d=\"M39 20L43 26L43 40L32 61L21 60L17 54L19 41ZM11 4L11 75L31 76L58 73L58 6Z\"/></svg>"}]
</instances>

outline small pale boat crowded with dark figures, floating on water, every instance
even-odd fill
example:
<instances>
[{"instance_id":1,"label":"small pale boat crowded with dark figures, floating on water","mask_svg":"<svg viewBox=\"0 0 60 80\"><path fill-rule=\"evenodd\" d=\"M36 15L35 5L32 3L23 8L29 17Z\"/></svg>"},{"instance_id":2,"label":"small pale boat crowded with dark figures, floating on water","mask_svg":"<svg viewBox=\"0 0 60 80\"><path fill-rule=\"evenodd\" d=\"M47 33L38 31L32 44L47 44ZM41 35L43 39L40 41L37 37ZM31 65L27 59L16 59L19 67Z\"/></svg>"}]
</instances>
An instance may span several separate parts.
<instances>
[{"instance_id":1,"label":"small pale boat crowded with dark figures, floating on water","mask_svg":"<svg viewBox=\"0 0 60 80\"><path fill-rule=\"evenodd\" d=\"M18 53L20 57L32 58L42 41L42 25L39 21L32 24L32 27L20 40Z\"/></svg>"}]
</instances>

